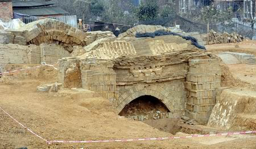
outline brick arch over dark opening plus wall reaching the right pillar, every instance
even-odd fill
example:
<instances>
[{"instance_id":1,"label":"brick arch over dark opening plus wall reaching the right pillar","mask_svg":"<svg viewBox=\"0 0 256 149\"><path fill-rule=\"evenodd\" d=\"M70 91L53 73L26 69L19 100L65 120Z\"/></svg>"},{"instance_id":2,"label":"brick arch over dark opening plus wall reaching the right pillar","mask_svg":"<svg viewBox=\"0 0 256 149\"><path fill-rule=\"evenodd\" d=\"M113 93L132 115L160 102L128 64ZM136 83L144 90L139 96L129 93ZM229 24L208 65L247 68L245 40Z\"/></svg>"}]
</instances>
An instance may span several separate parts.
<instances>
[{"instance_id":1,"label":"brick arch over dark opening plus wall reaching the right pillar","mask_svg":"<svg viewBox=\"0 0 256 149\"><path fill-rule=\"evenodd\" d=\"M126 89L125 92L119 95L117 100L118 112L129 104L131 101L141 96L153 96L158 98L168 110L172 113L184 110L185 92L184 85L178 84L180 88L176 86L163 86L159 85L137 85L130 89Z\"/></svg>"}]
</instances>

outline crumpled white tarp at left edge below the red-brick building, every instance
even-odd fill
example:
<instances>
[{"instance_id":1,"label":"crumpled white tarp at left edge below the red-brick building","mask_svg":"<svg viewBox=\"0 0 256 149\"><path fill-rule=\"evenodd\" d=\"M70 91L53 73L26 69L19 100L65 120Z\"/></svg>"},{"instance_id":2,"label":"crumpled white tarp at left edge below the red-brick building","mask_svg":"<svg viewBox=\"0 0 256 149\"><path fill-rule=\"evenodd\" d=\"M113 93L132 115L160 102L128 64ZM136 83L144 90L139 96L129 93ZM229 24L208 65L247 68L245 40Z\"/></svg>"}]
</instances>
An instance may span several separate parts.
<instances>
[{"instance_id":1,"label":"crumpled white tarp at left edge below the red-brick building","mask_svg":"<svg viewBox=\"0 0 256 149\"><path fill-rule=\"evenodd\" d=\"M0 19L0 30L16 30L24 25L25 23L23 23L20 19L13 19L9 22L2 22L2 20Z\"/></svg>"}]
</instances>

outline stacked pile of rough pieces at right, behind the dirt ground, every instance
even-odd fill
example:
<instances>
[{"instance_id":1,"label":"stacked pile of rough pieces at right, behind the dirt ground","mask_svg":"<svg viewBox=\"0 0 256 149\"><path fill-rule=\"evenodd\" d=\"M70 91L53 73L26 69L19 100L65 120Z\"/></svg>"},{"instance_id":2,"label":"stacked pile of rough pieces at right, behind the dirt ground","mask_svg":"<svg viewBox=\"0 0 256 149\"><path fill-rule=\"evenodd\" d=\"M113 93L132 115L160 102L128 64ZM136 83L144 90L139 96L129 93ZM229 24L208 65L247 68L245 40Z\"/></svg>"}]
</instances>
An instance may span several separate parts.
<instances>
[{"instance_id":1,"label":"stacked pile of rough pieces at right, behind the dirt ground","mask_svg":"<svg viewBox=\"0 0 256 149\"><path fill-rule=\"evenodd\" d=\"M220 44L220 43L238 43L242 42L243 36L238 35L236 32L229 34L224 32L223 34L211 30L209 32L208 44Z\"/></svg>"}]
</instances>

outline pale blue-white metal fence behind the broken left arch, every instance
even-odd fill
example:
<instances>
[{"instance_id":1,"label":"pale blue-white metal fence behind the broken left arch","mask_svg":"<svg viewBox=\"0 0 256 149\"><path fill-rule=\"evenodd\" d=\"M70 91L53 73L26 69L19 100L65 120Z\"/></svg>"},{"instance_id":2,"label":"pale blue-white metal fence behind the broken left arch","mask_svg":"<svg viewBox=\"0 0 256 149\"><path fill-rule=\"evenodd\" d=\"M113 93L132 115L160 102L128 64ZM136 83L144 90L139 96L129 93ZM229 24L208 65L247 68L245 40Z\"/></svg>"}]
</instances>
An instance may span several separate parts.
<instances>
[{"instance_id":1,"label":"pale blue-white metal fence behind the broken left arch","mask_svg":"<svg viewBox=\"0 0 256 149\"><path fill-rule=\"evenodd\" d=\"M22 22L24 22L26 24L30 23L30 22L34 22L35 20L39 20L39 19L51 18L51 19L56 19L61 22L67 23L70 26L77 28L77 16L76 15L43 17L43 16L30 16L30 15L14 13L14 19L18 19L18 18L21 19Z\"/></svg>"}]
</instances>

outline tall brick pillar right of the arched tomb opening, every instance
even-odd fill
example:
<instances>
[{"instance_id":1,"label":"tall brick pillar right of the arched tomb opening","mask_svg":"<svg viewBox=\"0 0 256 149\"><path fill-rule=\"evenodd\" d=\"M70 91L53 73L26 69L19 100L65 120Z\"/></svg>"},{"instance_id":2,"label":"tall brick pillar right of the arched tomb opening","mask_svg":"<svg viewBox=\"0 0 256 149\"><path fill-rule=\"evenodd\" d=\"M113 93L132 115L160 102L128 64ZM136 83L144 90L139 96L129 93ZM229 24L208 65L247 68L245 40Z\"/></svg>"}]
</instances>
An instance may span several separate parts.
<instances>
[{"instance_id":1,"label":"tall brick pillar right of the arched tomb opening","mask_svg":"<svg viewBox=\"0 0 256 149\"><path fill-rule=\"evenodd\" d=\"M220 87L221 68L218 60L189 60L187 75L186 115L207 123L216 104L216 88Z\"/></svg>"}]
</instances>

